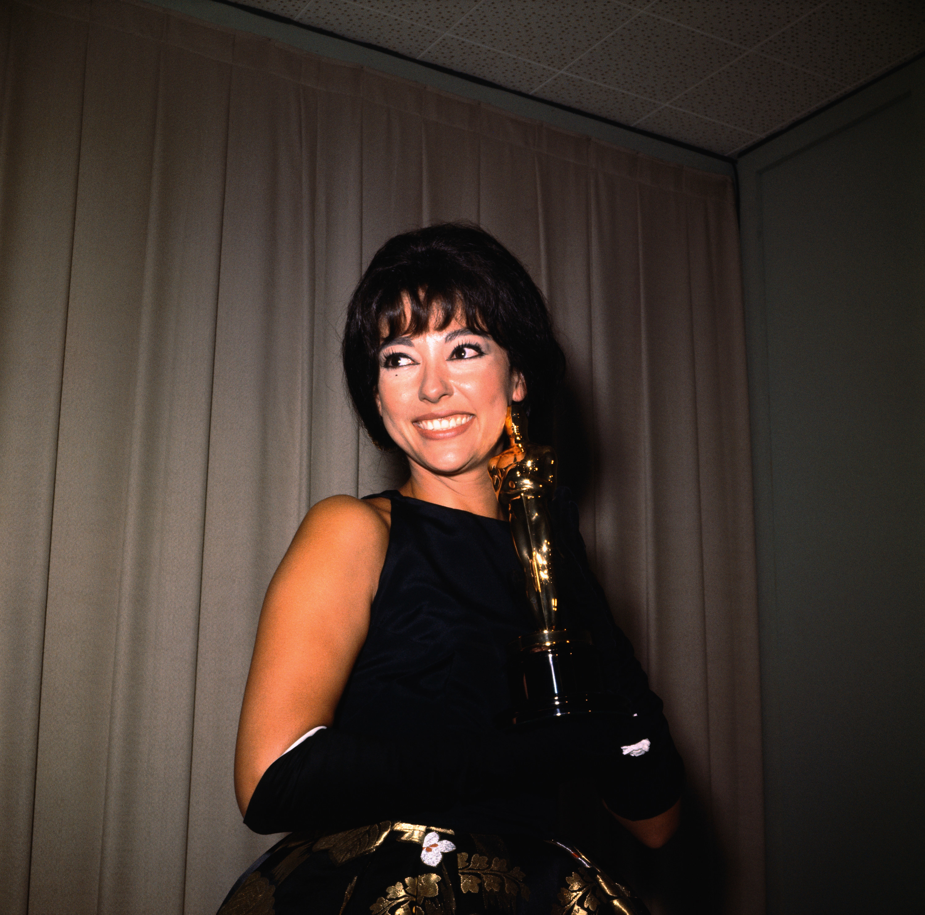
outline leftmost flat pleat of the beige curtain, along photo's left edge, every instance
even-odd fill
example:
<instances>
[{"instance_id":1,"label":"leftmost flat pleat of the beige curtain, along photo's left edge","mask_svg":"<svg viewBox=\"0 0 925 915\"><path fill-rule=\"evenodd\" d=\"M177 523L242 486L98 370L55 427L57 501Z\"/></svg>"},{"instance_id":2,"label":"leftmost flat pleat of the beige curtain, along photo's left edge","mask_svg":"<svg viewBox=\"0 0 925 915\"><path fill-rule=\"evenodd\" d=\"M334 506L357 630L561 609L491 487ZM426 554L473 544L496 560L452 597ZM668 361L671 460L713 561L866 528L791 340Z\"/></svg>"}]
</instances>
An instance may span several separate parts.
<instances>
[{"instance_id":1,"label":"leftmost flat pleat of the beige curtain, along photo's left edge","mask_svg":"<svg viewBox=\"0 0 925 915\"><path fill-rule=\"evenodd\" d=\"M86 22L0 6L0 830L24 911Z\"/></svg>"}]
</instances>

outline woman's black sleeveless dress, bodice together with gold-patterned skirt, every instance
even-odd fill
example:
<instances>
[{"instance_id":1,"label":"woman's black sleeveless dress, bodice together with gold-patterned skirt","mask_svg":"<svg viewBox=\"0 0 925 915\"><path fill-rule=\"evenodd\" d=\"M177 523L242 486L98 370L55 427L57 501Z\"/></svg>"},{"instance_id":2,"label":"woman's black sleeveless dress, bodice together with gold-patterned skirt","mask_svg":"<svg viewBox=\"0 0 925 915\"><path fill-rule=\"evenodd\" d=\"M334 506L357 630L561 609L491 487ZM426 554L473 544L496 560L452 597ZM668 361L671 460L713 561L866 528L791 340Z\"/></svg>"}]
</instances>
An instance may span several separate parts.
<instances>
[{"instance_id":1,"label":"woman's black sleeveless dress, bodice together with gold-patterned skirt","mask_svg":"<svg viewBox=\"0 0 925 915\"><path fill-rule=\"evenodd\" d=\"M439 766L428 738L475 738L498 727L511 705L506 648L534 628L524 573L507 522L393 490L381 495L391 501L388 550L369 634L333 726L400 736L411 764ZM576 516L568 516L573 506L559 494L553 506L557 545L566 553L577 549ZM574 587L575 575L566 577ZM648 693L632 647L606 605L604 619L597 604L596 616L592 610L571 622L591 630L611 688ZM219 915L646 911L625 886L561 844L555 797L492 798L433 815L419 811L417 820L336 835L291 833L240 876Z\"/></svg>"}]
</instances>

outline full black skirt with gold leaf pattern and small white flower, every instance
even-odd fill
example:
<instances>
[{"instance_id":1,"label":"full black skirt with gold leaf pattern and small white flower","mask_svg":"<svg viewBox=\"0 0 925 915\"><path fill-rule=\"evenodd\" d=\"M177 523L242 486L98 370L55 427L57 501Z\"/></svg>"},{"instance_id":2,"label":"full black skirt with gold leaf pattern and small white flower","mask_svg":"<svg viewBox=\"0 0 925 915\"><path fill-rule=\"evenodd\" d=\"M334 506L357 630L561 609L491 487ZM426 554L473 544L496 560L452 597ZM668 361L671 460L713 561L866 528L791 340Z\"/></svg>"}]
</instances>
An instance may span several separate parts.
<instances>
[{"instance_id":1,"label":"full black skirt with gold leaf pattern and small white flower","mask_svg":"<svg viewBox=\"0 0 925 915\"><path fill-rule=\"evenodd\" d=\"M573 848L528 835L380 822L291 833L241 874L218 915L645 915Z\"/></svg>"}]
</instances>

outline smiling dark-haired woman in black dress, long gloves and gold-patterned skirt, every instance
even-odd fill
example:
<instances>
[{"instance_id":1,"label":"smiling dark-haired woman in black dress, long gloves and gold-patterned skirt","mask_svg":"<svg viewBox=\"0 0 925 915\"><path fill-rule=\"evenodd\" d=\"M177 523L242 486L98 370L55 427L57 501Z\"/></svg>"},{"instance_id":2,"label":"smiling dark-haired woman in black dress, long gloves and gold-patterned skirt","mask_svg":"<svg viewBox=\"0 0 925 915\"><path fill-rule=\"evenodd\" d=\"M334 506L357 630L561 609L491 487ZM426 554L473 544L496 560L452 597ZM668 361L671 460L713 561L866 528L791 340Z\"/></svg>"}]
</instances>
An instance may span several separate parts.
<instances>
[{"instance_id":1,"label":"smiling dark-haired woman in black dress, long gloves and gold-patterned skirt","mask_svg":"<svg viewBox=\"0 0 925 915\"><path fill-rule=\"evenodd\" d=\"M643 910L557 844L559 785L598 791L658 847L682 779L562 494L561 608L592 632L633 713L502 724L505 647L533 622L487 464L507 447L509 405L549 412L561 378L541 293L481 229L401 235L353 294L343 358L364 427L401 449L410 476L398 491L316 504L267 590L235 789L253 830L292 833L241 876L222 915Z\"/></svg>"}]
</instances>

